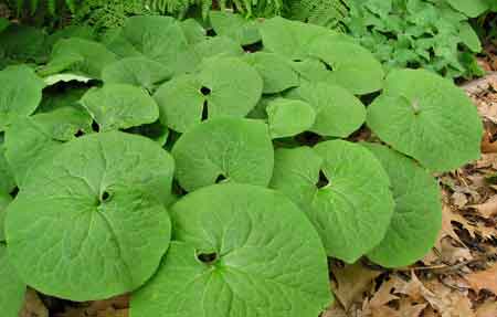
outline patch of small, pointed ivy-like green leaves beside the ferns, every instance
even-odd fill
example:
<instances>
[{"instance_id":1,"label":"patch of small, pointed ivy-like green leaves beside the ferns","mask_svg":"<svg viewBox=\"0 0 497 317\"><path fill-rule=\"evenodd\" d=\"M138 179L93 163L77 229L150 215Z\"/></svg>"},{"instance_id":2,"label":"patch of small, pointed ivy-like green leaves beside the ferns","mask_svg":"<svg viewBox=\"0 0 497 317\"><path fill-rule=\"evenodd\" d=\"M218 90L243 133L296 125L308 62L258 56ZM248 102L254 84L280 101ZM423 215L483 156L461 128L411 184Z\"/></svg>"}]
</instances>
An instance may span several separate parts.
<instances>
[{"instance_id":1,"label":"patch of small, pointed ivy-like green leaves beside the ferns","mask_svg":"<svg viewBox=\"0 0 497 317\"><path fill-rule=\"evenodd\" d=\"M482 74L474 56L482 45L465 14L486 10L485 1L348 0L342 22L387 71L425 67L451 78L470 77Z\"/></svg>"}]
</instances>

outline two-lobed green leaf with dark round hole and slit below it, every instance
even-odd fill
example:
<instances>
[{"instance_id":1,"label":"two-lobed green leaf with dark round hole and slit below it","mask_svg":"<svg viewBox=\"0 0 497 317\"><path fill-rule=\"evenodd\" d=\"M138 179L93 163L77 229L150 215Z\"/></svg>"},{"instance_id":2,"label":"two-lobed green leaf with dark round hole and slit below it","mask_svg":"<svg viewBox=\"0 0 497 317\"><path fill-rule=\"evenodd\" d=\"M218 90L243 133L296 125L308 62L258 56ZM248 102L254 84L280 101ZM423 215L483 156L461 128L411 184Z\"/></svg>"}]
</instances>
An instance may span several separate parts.
<instances>
[{"instance_id":1,"label":"two-lobed green leaf with dark round hole and slit below it","mask_svg":"<svg viewBox=\"0 0 497 317\"><path fill-rule=\"evenodd\" d=\"M165 83L154 95L160 120L184 133L208 118L244 117L257 104L263 82L257 72L234 57L205 60L199 74Z\"/></svg>"}]
</instances>

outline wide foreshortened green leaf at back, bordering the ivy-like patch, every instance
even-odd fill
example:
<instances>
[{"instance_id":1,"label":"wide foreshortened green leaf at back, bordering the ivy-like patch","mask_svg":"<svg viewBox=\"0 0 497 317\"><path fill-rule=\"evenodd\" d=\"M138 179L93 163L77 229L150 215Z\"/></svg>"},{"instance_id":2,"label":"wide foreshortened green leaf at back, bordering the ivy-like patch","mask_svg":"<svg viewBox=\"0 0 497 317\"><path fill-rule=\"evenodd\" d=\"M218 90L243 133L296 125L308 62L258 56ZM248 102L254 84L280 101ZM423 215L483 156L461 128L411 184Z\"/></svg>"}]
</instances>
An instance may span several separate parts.
<instances>
[{"instance_id":1,"label":"wide foreshortened green leaf at back, bordering the ivy-like patch","mask_svg":"<svg viewBox=\"0 0 497 317\"><path fill-rule=\"evenodd\" d=\"M384 74L381 64L368 51L343 35L282 18L263 23L261 33L264 49L269 52L297 64L318 59L330 67L318 81L342 85L358 95L382 87Z\"/></svg>"}]
</instances>

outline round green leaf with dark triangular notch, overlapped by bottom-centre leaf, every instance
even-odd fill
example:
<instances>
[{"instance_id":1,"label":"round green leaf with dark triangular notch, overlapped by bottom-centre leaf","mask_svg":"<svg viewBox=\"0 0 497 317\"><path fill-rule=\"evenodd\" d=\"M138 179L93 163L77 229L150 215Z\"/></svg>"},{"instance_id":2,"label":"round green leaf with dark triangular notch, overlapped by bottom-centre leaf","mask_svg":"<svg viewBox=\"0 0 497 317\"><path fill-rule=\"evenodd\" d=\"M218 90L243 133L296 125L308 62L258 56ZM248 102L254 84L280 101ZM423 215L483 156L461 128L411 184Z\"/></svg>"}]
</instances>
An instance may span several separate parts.
<instances>
[{"instance_id":1,"label":"round green leaf with dark triangular notch, overlapped by bottom-centre leaf","mask_svg":"<svg viewBox=\"0 0 497 317\"><path fill-rule=\"evenodd\" d=\"M347 263L383 239L394 207L389 186L369 150L342 140L276 150L269 184L306 212L327 254Z\"/></svg>"}]
</instances>

